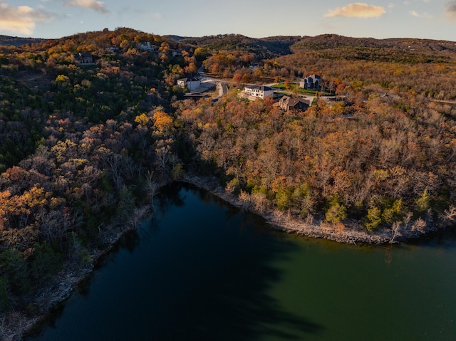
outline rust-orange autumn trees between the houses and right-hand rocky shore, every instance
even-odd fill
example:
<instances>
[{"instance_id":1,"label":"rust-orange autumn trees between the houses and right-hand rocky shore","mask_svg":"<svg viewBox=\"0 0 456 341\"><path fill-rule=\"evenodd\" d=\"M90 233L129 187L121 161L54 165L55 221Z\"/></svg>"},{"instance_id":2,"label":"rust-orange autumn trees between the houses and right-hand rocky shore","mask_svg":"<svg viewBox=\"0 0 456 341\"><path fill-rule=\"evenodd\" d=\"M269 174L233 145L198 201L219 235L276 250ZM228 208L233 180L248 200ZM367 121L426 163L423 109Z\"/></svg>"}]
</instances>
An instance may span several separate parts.
<instances>
[{"instance_id":1,"label":"rust-orange autumn trees between the houses and right-hand rocky shore","mask_svg":"<svg viewBox=\"0 0 456 341\"><path fill-rule=\"evenodd\" d=\"M440 206L454 204L447 189L455 186L455 110L419 97L356 95L365 100L353 94L356 105L292 113L229 95L186 102L177 117L195 145L195 167L218 174L260 211L320 212L333 224L358 219L368 231L410 213L430 224Z\"/></svg>"}]
</instances>

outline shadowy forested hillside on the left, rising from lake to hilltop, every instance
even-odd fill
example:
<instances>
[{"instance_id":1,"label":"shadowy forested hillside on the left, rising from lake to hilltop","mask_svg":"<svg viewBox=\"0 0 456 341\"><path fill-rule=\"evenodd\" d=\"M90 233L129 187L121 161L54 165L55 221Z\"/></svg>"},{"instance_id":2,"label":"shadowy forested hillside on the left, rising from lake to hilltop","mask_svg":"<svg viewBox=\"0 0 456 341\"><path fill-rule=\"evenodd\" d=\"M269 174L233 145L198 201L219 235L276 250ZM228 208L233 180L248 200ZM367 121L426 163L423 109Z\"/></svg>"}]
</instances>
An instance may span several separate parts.
<instances>
[{"instance_id":1,"label":"shadowy forested hillside on the left, rising from lake to hilltop","mask_svg":"<svg viewBox=\"0 0 456 341\"><path fill-rule=\"evenodd\" d=\"M157 51L136 48L144 41ZM80 51L95 65L76 65ZM167 112L182 96L175 80L195 68L190 53L128 28L0 49L2 312L39 313L35 288L91 262L158 184L180 177Z\"/></svg>"}]
</instances>

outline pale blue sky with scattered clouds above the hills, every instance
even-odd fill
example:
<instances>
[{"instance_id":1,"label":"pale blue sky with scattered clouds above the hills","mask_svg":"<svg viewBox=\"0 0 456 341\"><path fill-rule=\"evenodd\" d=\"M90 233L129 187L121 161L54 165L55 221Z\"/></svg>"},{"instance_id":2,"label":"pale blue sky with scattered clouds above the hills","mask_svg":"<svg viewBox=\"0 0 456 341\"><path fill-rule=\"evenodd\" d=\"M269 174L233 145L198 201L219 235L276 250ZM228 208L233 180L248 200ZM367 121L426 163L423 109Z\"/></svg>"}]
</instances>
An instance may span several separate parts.
<instances>
[{"instance_id":1,"label":"pale blue sky with scattered clouds above the hills","mask_svg":"<svg viewBox=\"0 0 456 341\"><path fill-rule=\"evenodd\" d=\"M118 27L177 36L456 41L456 0L0 0L0 34L61 38Z\"/></svg>"}]
</instances>

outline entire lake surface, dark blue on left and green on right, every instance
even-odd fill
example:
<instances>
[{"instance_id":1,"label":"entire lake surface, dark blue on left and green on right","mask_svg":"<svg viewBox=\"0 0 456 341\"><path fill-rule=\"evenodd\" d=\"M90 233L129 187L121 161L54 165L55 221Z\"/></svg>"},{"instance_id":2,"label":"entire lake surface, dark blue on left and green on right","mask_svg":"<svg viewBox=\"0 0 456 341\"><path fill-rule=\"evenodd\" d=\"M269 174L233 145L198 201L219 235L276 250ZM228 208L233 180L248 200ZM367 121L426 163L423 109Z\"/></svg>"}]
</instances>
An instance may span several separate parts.
<instances>
[{"instance_id":1,"label":"entire lake surface, dark blue on left and green on right","mask_svg":"<svg viewBox=\"0 0 456 341\"><path fill-rule=\"evenodd\" d=\"M175 185L32 340L456 340L456 234L347 246Z\"/></svg>"}]
</instances>

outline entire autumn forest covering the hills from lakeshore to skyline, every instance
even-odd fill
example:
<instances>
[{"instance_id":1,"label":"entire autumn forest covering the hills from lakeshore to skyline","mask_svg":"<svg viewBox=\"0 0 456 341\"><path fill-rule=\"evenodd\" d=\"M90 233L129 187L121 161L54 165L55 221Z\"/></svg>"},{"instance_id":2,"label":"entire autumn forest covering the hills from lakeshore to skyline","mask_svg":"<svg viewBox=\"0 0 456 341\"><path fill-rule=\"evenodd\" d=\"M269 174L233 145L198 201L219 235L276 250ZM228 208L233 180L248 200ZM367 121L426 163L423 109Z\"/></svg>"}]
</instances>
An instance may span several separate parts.
<instances>
[{"instance_id":1,"label":"entire autumn forest covering the hills from lakeshore to skyline","mask_svg":"<svg viewBox=\"0 0 456 341\"><path fill-rule=\"evenodd\" d=\"M234 85L185 100L177 79L201 65L237 87L316 73L339 96L304 112ZM118 28L0 46L0 310L40 313L36 288L91 263L185 173L216 176L259 213L429 231L456 211L455 75L455 43L417 39Z\"/></svg>"}]
</instances>

